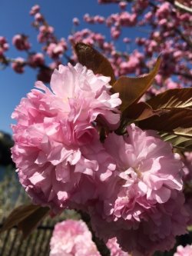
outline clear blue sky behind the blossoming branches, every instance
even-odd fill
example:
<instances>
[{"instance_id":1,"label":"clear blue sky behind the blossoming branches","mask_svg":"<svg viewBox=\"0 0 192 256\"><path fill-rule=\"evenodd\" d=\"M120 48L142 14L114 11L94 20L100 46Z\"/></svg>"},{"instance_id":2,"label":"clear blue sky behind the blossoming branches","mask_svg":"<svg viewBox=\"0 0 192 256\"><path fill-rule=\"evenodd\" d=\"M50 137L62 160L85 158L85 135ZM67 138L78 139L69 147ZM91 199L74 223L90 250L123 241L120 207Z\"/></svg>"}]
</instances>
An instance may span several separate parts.
<instances>
[{"instance_id":1,"label":"clear blue sky behind the blossoming branches","mask_svg":"<svg viewBox=\"0 0 192 256\"><path fill-rule=\"evenodd\" d=\"M83 15L104 15L118 12L117 5L98 5L98 0L1 0L0 1L0 35L4 35L10 43L8 57L25 56L12 46L12 36L18 33L29 35L32 48L36 51L41 49L37 43L37 33L31 27L32 17L28 14L31 6L38 4L41 12L47 18L48 23L55 27L56 35L67 37L72 28L72 18L78 17L81 21L80 28L88 27L83 22ZM107 28L103 25L92 25L94 31L106 34ZM127 30L128 32L128 30ZM109 32L108 32L109 33ZM134 34L137 32L134 32ZM108 35L109 36L109 35ZM22 97L33 88L35 83L35 70L27 68L23 75L16 74L11 68L0 71L0 130L12 132L10 124L12 111L18 105Z\"/></svg>"}]
</instances>

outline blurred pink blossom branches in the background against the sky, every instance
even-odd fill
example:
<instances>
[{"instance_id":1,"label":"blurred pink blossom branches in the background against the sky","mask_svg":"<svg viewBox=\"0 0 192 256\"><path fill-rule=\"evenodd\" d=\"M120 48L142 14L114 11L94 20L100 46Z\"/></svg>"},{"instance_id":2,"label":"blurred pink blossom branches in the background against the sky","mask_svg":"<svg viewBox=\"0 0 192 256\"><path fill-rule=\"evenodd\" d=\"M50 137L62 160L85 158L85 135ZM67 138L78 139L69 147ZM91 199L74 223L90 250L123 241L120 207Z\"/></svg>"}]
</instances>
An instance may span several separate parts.
<instances>
[{"instance_id":1,"label":"blurred pink blossom branches in the background against the sky","mask_svg":"<svg viewBox=\"0 0 192 256\"><path fill-rule=\"evenodd\" d=\"M147 73L154 65L154 58L161 52L163 62L155 78L156 86L151 88L151 94L165 91L166 88L192 85L192 15L190 12L184 8L177 8L174 1L103 0L98 2L117 5L117 12L108 17L85 14L84 22L93 25L93 28L94 24L106 26L109 35L102 35L94 29L80 29L78 28L80 20L74 18L74 29L71 35L66 38L57 38L55 28L48 24L41 13L40 6L35 5L31 8L30 15L34 18L32 26L38 32L37 39L42 45L41 52L35 52L35 49L31 48L30 38L27 35L15 35L12 44L18 51L25 51L26 58L9 58L5 52L8 50L8 44L6 39L1 37L1 64L6 67L11 63L12 68L18 73L23 73L25 66L36 68L38 79L48 82L52 71L58 68L58 65L77 62L73 49L74 43L84 42L98 48L108 57L116 76ZM126 28L137 32L135 38L125 36ZM132 48L135 50L132 51Z\"/></svg>"}]
</instances>

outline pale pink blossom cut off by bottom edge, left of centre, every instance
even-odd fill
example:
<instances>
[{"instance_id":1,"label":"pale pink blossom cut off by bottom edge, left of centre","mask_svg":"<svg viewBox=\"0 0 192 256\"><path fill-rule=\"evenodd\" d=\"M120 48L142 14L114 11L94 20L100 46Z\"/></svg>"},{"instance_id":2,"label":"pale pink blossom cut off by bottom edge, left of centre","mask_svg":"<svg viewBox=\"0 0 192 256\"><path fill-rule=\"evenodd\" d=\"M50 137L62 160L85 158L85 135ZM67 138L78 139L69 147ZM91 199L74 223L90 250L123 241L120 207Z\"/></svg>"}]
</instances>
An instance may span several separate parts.
<instances>
[{"instance_id":1,"label":"pale pink blossom cut off by bottom edge, left of centre","mask_svg":"<svg viewBox=\"0 0 192 256\"><path fill-rule=\"evenodd\" d=\"M83 221L62 221L55 225L50 256L101 256Z\"/></svg>"}]
</instances>

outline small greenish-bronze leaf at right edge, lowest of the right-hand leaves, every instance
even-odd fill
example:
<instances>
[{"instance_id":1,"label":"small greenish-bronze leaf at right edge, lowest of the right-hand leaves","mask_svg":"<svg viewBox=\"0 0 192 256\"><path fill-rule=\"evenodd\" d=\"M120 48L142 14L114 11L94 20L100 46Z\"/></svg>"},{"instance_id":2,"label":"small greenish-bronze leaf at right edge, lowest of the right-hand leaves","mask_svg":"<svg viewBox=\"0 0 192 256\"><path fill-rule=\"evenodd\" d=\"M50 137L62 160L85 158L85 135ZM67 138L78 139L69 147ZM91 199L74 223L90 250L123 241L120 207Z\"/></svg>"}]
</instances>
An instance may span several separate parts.
<instances>
[{"instance_id":1,"label":"small greenish-bronze leaf at right edge, lowest of the right-hand leaves","mask_svg":"<svg viewBox=\"0 0 192 256\"><path fill-rule=\"evenodd\" d=\"M192 138L171 133L162 133L161 138L164 141L170 142L174 148L179 148L181 151L192 151Z\"/></svg>"}]
</instances>

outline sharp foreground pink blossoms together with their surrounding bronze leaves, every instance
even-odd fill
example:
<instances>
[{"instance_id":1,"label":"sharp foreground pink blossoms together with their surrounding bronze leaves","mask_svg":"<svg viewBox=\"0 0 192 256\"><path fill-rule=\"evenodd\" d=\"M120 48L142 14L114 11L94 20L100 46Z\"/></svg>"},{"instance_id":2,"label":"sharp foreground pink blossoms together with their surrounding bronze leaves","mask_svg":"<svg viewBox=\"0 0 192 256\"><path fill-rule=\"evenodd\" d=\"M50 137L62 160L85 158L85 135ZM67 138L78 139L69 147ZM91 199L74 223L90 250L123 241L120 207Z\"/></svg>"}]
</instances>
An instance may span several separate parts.
<instances>
[{"instance_id":1,"label":"sharp foreground pink blossoms together with their surrounding bronze leaves","mask_svg":"<svg viewBox=\"0 0 192 256\"><path fill-rule=\"evenodd\" d=\"M27 235L48 212L70 208L88 224L97 255L109 255L105 243L111 250L114 242L124 255L168 250L191 223L182 178L190 181L184 172L185 151L192 150L192 89L142 102L160 58L148 75L116 79L108 59L90 45L74 49L80 63L55 69L51 90L38 81L12 114L18 121L12 158L39 206L15 209L2 231L18 224ZM170 223L165 232L163 220Z\"/></svg>"}]
</instances>

